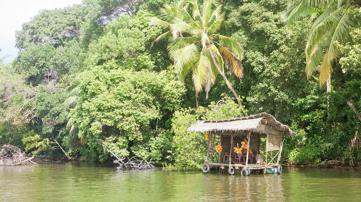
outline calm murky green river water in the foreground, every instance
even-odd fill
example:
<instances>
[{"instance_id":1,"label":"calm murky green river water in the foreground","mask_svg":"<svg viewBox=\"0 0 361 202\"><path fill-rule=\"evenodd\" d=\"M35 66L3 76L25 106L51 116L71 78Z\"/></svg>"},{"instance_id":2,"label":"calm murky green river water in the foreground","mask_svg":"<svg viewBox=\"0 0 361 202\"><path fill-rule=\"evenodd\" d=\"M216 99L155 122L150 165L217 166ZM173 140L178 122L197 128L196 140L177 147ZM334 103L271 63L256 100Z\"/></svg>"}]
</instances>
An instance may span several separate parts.
<instances>
[{"instance_id":1,"label":"calm murky green river water in the foreground","mask_svg":"<svg viewBox=\"0 0 361 202\"><path fill-rule=\"evenodd\" d=\"M282 175L117 171L110 163L0 166L0 201L361 201L361 170L283 168Z\"/></svg>"}]
</instances>

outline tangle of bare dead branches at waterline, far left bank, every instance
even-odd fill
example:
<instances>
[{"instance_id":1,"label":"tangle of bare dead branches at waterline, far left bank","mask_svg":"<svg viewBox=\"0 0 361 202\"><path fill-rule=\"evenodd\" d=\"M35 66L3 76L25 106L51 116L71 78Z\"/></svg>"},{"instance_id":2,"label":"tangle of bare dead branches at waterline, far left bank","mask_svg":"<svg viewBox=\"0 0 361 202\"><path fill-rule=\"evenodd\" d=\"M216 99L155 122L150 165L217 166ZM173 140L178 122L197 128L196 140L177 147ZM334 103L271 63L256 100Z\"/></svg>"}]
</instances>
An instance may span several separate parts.
<instances>
[{"instance_id":1,"label":"tangle of bare dead branches at waterline, far left bank","mask_svg":"<svg viewBox=\"0 0 361 202\"><path fill-rule=\"evenodd\" d=\"M25 152L13 145L3 145L0 148L0 166L15 166L19 164L36 164L27 157Z\"/></svg>"}]
</instances>

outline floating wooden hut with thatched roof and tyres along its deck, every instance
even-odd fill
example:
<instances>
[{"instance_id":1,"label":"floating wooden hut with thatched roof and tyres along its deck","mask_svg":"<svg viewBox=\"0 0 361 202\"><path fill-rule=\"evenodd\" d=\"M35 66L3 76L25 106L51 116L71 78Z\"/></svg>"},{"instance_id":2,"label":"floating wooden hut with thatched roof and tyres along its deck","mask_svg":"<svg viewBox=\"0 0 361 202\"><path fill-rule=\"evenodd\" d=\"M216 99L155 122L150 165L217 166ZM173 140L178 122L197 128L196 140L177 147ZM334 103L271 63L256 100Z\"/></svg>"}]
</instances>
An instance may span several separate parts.
<instances>
[{"instance_id":1,"label":"floating wooden hut with thatched roof and tyres along its deck","mask_svg":"<svg viewBox=\"0 0 361 202\"><path fill-rule=\"evenodd\" d=\"M279 160L282 153L283 140L285 136L295 136L295 132L291 130L287 125L283 125L278 122L276 118L267 113L260 113L249 117L235 118L235 119L222 119L222 120L200 120L187 129L187 132L209 132L206 133L207 154L202 170L204 173L209 172L209 166L229 167L228 172L233 175L234 168L249 168L249 169L279 169ZM209 137L208 137L209 135ZM218 136L218 138L217 138ZM261 149L260 137L266 137L266 161L261 164L253 164L253 153L249 151L258 151ZM217 140L216 140L217 139ZM242 154L245 159L245 165L237 164L235 161L232 163L232 159L235 160L235 156L240 153L235 153L234 145L239 146L239 143L248 139L247 151ZM219 152L218 163L213 162L213 146L217 144L222 146L223 150ZM250 143L252 142L252 143ZM234 150L234 151L233 151ZM243 153L242 151L242 153ZM239 151L237 151L239 152ZM226 160L227 157L227 160ZM263 157L261 157L262 159ZM250 164L248 164L250 161ZM238 158L238 162L240 162ZM277 171L278 172L278 171Z\"/></svg>"}]
</instances>

